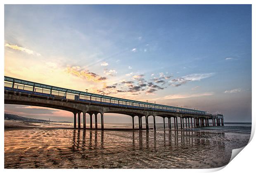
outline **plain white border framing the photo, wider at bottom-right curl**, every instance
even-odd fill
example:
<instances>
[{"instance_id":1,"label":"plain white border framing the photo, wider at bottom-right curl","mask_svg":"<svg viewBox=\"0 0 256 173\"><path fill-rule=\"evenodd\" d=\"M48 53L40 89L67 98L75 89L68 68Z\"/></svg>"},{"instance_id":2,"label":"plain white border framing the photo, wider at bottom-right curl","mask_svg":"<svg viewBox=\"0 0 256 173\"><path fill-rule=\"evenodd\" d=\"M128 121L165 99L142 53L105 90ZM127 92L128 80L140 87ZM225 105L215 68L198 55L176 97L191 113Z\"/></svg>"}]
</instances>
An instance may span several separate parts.
<instances>
[{"instance_id":1,"label":"plain white border framing the photo, wider at bottom-right curl","mask_svg":"<svg viewBox=\"0 0 256 173\"><path fill-rule=\"evenodd\" d=\"M252 4L252 78L254 79L252 81L252 89L256 87L255 85L255 9L256 9L256 1L255 0L94 0L94 1L88 1L88 0L2 0L2 6L0 7L0 14L1 14L1 23L2 23L2 28L4 28L4 4ZM1 52L2 52L2 63L0 63L0 66L2 68L1 74L2 77L4 75L4 33L1 35L1 40L2 40L2 47ZM0 94L2 96L1 100L1 110L2 110L2 115L4 113L4 99L3 99L3 90L0 90ZM213 171L218 171L220 172L227 171L227 172L252 172L251 170L254 170L254 158L255 158L255 147L256 142L255 139L252 138L254 135L255 131L255 92L252 90L252 133L251 133L251 142L249 145L247 145L244 150L239 154L238 157L235 157L227 166L223 166L222 168L214 168L214 169L161 169L161 172L169 172L169 171L174 171L174 172L213 172ZM1 143L0 143L0 149L1 149L1 168L4 169L4 121L2 119L2 135L1 135ZM225 168L224 168L225 167ZM32 172L35 171L33 169L19 169L19 170L12 170L12 169L5 169L5 172L11 172L11 171L21 171L21 172ZM59 170L53 170L53 169L37 169L36 171L38 172L45 172L45 171L54 171L54 172L70 172L73 171L71 169L59 169ZM160 171L159 169L87 169L87 170L76 170L78 172L83 172L83 171L104 171L104 172L130 172L130 171L147 171L147 172L158 172Z\"/></svg>"}]
</instances>

